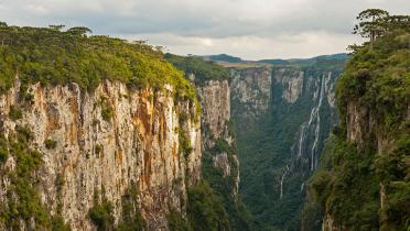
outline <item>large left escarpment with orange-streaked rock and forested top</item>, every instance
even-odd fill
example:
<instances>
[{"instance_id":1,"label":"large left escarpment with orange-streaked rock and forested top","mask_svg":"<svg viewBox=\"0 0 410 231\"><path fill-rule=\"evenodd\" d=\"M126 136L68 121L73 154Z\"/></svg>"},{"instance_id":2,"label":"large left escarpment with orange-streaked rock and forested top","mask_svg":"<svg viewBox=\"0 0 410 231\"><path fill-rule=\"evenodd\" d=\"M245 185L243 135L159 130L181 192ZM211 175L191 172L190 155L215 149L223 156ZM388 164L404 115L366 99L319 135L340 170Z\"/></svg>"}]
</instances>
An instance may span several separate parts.
<instances>
[{"instance_id":1,"label":"large left escarpment with orange-streaked rock and forested top","mask_svg":"<svg viewBox=\"0 0 410 231\"><path fill-rule=\"evenodd\" d=\"M86 32L0 26L1 229L190 228L197 204L223 216L183 73L149 45Z\"/></svg>"}]
</instances>

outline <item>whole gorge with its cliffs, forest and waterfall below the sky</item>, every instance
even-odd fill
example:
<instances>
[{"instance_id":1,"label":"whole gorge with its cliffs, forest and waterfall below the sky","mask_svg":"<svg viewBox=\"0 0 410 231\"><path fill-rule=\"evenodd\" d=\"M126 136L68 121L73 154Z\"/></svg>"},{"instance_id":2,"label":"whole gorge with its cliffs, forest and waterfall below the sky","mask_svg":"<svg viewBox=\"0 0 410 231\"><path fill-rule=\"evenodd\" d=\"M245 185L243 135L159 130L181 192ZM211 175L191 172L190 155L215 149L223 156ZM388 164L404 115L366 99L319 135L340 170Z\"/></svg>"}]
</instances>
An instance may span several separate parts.
<instances>
[{"instance_id":1,"label":"whole gorge with its cliffs, forest and waterfall below the sky","mask_svg":"<svg viewBox=\"0 0 410 231\"><path fill-rule=\"evenodd\" d=\"M250 62L0 24L0 230L409 228L399 25Z\"/></svg>"}]
</instances>

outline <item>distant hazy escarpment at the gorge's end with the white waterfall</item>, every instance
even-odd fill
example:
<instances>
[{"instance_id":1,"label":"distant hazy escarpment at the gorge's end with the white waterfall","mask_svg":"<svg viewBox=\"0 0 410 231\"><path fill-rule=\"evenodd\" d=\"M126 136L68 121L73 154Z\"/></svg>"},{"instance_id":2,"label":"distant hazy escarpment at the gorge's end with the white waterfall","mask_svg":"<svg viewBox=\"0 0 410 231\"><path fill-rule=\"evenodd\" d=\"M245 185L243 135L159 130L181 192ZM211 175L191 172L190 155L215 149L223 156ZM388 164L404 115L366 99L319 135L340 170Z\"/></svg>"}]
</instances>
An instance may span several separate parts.
<instances>
[{"instance_id":1,"label":"distant hazy escarpment at the gorge's end with the white waterfall","mask_svg":"<svg viewBox=\"0 0 410 231\"><path fill-rule=\"evenodd\" d=\"M231 111L241 163L239 191L258 229L298 230L304 183L337 120L344 59L233 69Z\"/></svg>"}]
</instances>

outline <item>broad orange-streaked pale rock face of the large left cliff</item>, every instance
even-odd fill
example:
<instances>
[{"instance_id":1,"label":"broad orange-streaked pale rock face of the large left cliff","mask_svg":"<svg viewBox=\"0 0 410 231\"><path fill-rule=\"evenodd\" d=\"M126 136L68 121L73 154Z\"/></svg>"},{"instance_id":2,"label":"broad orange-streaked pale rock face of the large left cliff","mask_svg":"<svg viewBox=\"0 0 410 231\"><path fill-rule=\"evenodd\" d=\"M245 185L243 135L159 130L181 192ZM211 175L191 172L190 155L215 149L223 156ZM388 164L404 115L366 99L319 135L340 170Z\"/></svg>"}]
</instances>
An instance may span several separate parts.
<instances>
[{"instance_id":1,"label":"broad orange-streaked pale rock face of the large left cliff","mask_svg":"<svg viewBox=\"0 0 410 231\"><path fill-rule=\"evenodd\" d=\"M105 81L88 94L75 84L32 85L32 103L21 108L23 117L14 122L8 114L11 106L20 106L19 86L17 80L0 96L1 131L8 135L20 124L34 133L33 146L43 153L44 162L36 173L41 199L52 213L61 207L73 230L95 229L88 211L96 193L98 200L105 197L112 202L118 222L121 197L132 185L149 230L168 230L165 216L171 208L184 213L185 184L201 178L201 124L194 106L173 99L171 86L154 92ZM182 117L183 112L187 117ZM224 127L219 119L211 121L213 130ZM187 158L179 152L177 128L183 128L191 141ZM54 148L46 147L47 140L55 141ZM9 157L8 163L12 162ZM57 191L58 179L63 184ZM0 184L0 195L7 190L7 184Z\"/></svg>"}]
</instances>

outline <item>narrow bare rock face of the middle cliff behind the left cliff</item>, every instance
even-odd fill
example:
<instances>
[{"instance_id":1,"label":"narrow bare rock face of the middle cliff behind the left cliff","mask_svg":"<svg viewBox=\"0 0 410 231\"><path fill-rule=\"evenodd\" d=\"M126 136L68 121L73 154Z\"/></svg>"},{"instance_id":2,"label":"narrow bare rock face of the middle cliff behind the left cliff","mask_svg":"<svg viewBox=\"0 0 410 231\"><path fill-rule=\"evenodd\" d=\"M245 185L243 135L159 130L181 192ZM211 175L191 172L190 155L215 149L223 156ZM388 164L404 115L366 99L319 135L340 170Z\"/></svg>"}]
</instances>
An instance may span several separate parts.
<instances>
[{"instance_id":1,"label":"narrow bare rock face of the middle cliff behind the left cliff","mask_svg":"<svg viewBox=\"0 0 410 231\"><path fill-rule=\"evenodd\" d=\"M233 194L238 194L239 161L237 153L216 150L220 142L234 145L230 132L230 89L228 80L208 80L196 87L202 106L203 150L212 154L214 167L219 168L224 177L234 177Z\"/></svg>"}]
</instances>

